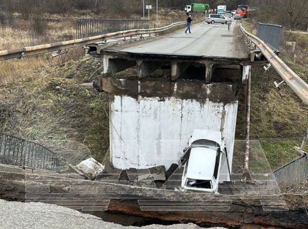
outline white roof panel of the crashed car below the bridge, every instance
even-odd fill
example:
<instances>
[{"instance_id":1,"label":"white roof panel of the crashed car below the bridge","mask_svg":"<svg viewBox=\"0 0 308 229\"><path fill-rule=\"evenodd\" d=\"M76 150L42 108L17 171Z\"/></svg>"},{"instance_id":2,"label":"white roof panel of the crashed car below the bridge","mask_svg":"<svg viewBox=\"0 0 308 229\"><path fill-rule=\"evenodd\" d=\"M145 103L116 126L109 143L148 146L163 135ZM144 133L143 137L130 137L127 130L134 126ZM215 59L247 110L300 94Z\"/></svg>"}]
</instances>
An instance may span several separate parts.
<instances>
[{"instance_id":1,"label":"white roof panel of the crashed car below the bridge","mask_svg":"<svg viewBox=\"0 0 308 229\"><path fill-rule=\"evenodd\" d=\"M187 177L196 180L212 180L216 163L216 150L192 148L188 160Z\"/></svg>"}]
</instances>

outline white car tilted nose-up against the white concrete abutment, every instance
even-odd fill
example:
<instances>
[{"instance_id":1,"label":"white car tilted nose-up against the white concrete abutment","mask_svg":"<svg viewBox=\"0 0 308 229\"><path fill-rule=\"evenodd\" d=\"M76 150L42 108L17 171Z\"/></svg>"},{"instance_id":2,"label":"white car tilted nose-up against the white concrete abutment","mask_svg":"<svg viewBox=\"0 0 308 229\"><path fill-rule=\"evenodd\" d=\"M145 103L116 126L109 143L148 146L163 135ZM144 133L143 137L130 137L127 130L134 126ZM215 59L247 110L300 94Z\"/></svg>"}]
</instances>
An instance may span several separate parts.
<instances>
[{"instance_id":1,"label":"white car tilted nose-up against the white concrete abutment","mask_svg":"<svg viewBox=\"0 0 308 229\"><path fill-rule=\"evenodd\" d=\"M179 164L184 166L182 191L217 193L225 143L221 132L194 130Z\"/></svg>"}]
</instances>

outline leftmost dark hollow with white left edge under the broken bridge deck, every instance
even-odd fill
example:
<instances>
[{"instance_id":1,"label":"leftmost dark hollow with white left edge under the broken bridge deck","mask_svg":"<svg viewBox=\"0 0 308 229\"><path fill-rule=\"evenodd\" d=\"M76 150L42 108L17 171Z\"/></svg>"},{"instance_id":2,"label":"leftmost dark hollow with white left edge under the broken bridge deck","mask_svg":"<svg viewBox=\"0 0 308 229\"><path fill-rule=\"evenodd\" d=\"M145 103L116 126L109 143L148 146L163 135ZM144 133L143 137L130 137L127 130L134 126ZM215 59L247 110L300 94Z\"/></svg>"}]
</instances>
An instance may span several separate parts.
<instances>
[{"instance_id":1,"label":"leftmost dark hollow with white left edge under the broken bridge deck","mask_svg":"<svg viewBox=\"0 0 308 229\"><path fill-rule=\"evenodd\" d=\"M136 61L119 59L113 56L104 56L104 73L116 74L120 71L123 71L127 68L133 67L136 65Z\"/></svg>"}]
</instances>

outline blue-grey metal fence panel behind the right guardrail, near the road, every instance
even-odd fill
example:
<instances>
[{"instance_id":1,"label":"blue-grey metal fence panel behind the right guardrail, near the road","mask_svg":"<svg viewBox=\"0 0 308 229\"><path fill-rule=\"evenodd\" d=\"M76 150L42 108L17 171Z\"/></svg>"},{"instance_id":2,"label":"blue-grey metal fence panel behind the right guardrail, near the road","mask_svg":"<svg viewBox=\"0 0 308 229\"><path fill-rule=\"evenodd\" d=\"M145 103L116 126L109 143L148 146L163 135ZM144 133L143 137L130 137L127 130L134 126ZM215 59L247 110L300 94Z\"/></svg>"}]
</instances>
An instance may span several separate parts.
<instances>
[{"instance_id":1,"label":"blue-grey metal fence panel behind the right guardrail, near the road","mask_svg":"<svg viewBox=\"0 0 308 229\"><path fill-rule=\"evenodd\" d=\"M279 52L281 31L283 27L276 24L256 25L256 36L268 44L275 52Z\"/></svg>"}]
</instances>

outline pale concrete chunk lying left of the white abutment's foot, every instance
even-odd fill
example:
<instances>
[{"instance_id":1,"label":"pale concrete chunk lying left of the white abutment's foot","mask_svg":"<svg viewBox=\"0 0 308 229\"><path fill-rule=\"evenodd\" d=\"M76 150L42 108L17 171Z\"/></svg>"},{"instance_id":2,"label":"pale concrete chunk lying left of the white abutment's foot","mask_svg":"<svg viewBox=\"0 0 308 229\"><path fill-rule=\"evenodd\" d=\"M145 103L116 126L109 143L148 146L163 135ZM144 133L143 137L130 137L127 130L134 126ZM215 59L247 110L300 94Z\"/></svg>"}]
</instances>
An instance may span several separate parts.
<instances>
[{"instance_id":1,"label":"pale concrete chunk lying left of the white abutment's foot","mask_svg":"<svg viewBox=\"0 0 308 229\"><path fill-rule=\"evenodd\" d=\"M77 165L76 168L93 180L99 173L104 171L105 167L94 158L88 158Z\"/></svg>"}]
</instances>

